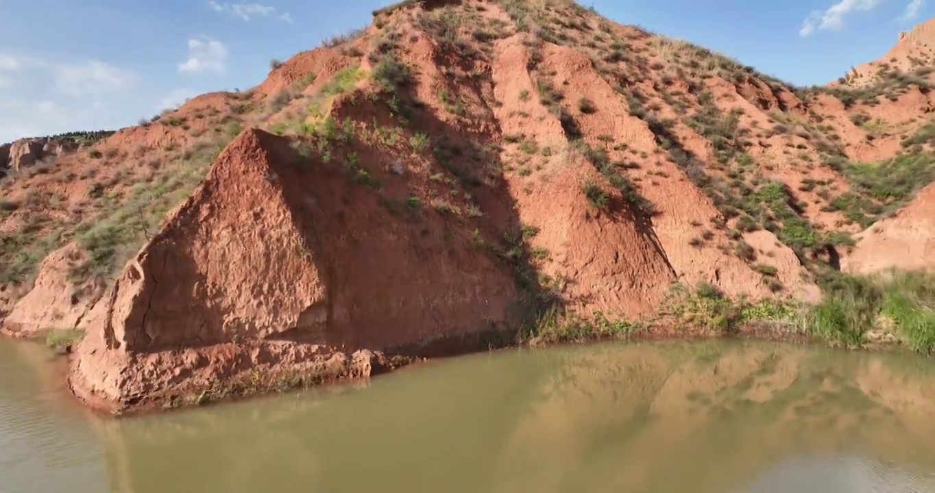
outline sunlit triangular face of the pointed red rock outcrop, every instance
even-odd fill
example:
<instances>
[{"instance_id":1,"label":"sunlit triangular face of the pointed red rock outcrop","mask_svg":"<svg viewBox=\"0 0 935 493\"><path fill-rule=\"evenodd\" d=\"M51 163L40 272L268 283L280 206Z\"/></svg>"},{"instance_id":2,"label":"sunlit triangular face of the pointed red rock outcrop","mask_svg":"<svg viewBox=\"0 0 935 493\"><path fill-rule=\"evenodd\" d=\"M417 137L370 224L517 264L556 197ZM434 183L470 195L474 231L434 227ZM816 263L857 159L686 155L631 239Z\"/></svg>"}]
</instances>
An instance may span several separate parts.
<instances>
[{"instance_id":1,"label":"sunlit triangular face of the pointed red rock outcrop","mask_svg":"<svg viewBox=\"0 0 935 493\"><path fill-rule=\"evenodd\" d=\"M108 346L155 352L324 329L324 275L275 178L269 135L248 131L114 288ZM315 322L322 322L315 324ZM323 338L316 338L324 342Z\"/></svg>"}]
</instances>

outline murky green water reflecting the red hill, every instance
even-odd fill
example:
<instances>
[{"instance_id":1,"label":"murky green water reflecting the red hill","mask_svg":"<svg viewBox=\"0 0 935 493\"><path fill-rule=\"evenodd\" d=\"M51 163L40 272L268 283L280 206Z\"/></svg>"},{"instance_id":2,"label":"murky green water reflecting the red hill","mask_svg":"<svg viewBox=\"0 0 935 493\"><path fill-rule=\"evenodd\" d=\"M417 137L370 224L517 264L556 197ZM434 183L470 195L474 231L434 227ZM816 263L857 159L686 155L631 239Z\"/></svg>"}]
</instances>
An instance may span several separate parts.
<instances>
[{"instance_id":1,"label":"murky green water reflecting the red hill","mask_svg":"<svg viewBox=\"0 0 935 493\"><path fill-rule=\"evenodd\" d=\"M764 343L446 359L94 416L0 339L0 492L935 491L935 360Z\"/></svg>"}]
</instances>

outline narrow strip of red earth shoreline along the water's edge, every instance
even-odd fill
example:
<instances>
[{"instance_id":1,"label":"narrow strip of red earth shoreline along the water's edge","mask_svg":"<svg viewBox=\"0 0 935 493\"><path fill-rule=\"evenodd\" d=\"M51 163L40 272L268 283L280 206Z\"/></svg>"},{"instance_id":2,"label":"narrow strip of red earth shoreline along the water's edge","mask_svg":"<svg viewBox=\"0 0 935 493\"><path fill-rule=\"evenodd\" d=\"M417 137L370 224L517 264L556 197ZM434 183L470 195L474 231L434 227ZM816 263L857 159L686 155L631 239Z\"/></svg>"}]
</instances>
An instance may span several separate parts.
<instances>
[{"instance_id":1,"label":"narrow strip of red earth shoreline along the water's edge","mask_svg":"<svg viewBox=\"0 0 935 493\"><path fill-rule=\"evenodd\" d=\"M813 334L808 334L790 324L775 322L747 323L737 327L733 331L716 331L708 328L685 328L676 329L674 326L648 326L640 330L627 332L626 335L606 335L592 334L590 337L551 340L551 341L523 341L518 340L516 334L509 340L506 339L510 334L504 332L475 333L467 336L448 337L436 341L429 345L410 346L405 351L409 354L400 354L395 351L389 351L386 354L394 356L385 357L384 353L376 353L380 357L382 364L376 364L367 373L355 373L347 371L337 372L302 372L290 368L272 368L272 371L263 373L250 373L255 379L259 374L258 380L248 381L240 373L232 378L218 379L217 385L211 386L186 386L180 385L174 388L167 388L164 391L153 392L149 395L141 396L137 401L115 402L102 399L86 387L76 385L74 381L75 373L72 371L75 364L76 354L68 351L64 355L59 353L58 357L65 357L67 362L59 365L65 370L63 375L63 390L69 394L69 399L77 401L80 406L88 409L94 414L100 416L145 416L159 412L168 412L173 410L188 409L206 405L218 405L223 403L246 401L274 395L277 393L304 391L312 387L329 387L335 384L352 384L354 382L367 382L370 378L381 376L386 373L393 373L404 367L415 367L418 365L443 362L445 359L457 358L484 352L495 353L508 350L519 349L541 349L554 346L571 346L584 344L605 344L611 342L622 343L640 343L640 342L663 342L663 341L702 341L702 340L750 340L762 342L784 343L792 345L826 345L836 347L846 351L869 351L869 352L898 352L912 350L899 341L889 342L871 342L856 347L848 347L840 343L834 343L827 339L819 338ZM8 334L11 340L20 339L22 342L36 344L35 337L15 337ZM507 344L492 344L493 341ZM50 352L54 351L49 348ZM390 363L390 361L393 361ZM387 364L388 363L388 364ZM187 388L186 388L187 387Z\"/></svg>"}]
</instances>

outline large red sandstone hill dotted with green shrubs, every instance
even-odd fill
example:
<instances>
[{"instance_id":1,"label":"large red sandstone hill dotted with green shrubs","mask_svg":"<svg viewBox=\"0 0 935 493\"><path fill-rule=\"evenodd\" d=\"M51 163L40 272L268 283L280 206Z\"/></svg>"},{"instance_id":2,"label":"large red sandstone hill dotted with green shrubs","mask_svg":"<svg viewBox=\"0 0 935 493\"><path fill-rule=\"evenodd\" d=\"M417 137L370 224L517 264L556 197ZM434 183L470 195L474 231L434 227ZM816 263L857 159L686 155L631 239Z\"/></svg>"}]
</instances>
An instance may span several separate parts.
<instances>
[{"instance_id":1,"label":"large red sandstone hill dotted with green shrubs","mask_svg":"<svg viewBox=\"0 0 935 493\"><path fill-rule=\"evenodd\" d=\"M7 177L4 331L86 330L72 387L133 408L368 374L544 306L639 319L677 285L810 302L841 264L935 261L904 233L932 99L896 70L794 88L570 2L404 2Z\"/></svg>"}]
</instances>

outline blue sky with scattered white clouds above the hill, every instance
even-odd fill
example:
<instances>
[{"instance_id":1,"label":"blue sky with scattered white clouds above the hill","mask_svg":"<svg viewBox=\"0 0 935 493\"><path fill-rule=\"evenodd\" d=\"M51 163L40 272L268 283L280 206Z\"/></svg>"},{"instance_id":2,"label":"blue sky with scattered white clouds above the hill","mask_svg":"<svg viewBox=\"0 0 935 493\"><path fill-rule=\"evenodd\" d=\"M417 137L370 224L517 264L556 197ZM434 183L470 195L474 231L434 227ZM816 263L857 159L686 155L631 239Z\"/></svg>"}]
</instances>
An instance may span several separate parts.
<instances>
[{"instance_id":1,"label":"blue sky with scattered white clouds above the hill","mask_svg":"<svg viewBox=\"0 0 935 493\"><path fill-rule=\"evenodd\" d=\"M389 0L0 0L0 142L136 124L202 92L246 89L370 21ZM883 55L925 0L584 0L798 84Z\"/></svg>"}]
</instances>

